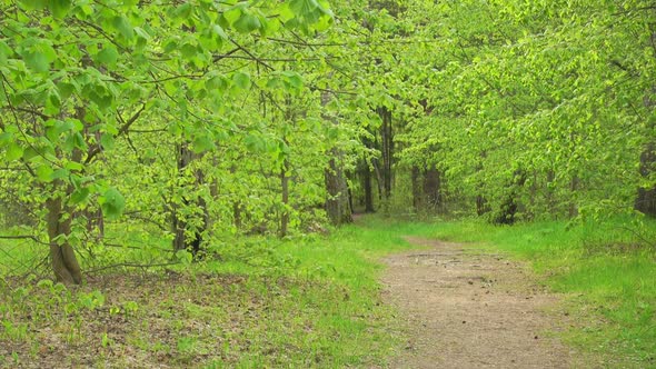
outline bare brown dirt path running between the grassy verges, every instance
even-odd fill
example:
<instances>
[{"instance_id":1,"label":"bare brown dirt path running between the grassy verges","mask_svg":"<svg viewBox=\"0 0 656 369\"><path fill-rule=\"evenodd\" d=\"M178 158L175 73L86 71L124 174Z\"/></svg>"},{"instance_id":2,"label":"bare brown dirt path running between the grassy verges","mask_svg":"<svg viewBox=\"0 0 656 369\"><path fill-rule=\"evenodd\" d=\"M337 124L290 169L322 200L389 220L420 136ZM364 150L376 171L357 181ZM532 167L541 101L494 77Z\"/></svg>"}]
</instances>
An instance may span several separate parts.
<instances>
[{"instance_id":1,"label":"bare brown dirt path running between the grassy verges","mask_svg":"<svg viewBox=\"0 0 656 369\"><path fill-rule=\"evenodd\" d=\"M520 266L473 246L408 241L431 249L385 259L385 298L410 330L392 368L571 367L573 353L545 337L556 298Z\"/></svg>"}]
</instances>

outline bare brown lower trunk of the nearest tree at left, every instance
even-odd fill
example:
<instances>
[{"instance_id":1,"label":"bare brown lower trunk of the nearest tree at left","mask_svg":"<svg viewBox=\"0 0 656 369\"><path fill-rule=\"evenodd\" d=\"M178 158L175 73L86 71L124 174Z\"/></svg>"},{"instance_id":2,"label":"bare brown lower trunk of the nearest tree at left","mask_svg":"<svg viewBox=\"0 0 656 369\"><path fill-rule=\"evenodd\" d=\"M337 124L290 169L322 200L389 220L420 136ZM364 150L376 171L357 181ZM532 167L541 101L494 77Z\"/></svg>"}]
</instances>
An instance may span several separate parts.
<instances>
[{"instance_id":1,"label":"bare brown lower trunk of the nearest tree at left","mask_svg":"<svg viewBox=\"0 0 656 369\"><path fill-rule=\"evenodd\" d=\"M64 285L80 285L82 282L82 271L76 252L66 237L71 232L72 212L66 211L60 198L49 199L46 201L48 210L48 239L50 242L50 261L52 271L57 281ZM69 217L63 217L64 215Z\"/></svg>"}]
</instances>

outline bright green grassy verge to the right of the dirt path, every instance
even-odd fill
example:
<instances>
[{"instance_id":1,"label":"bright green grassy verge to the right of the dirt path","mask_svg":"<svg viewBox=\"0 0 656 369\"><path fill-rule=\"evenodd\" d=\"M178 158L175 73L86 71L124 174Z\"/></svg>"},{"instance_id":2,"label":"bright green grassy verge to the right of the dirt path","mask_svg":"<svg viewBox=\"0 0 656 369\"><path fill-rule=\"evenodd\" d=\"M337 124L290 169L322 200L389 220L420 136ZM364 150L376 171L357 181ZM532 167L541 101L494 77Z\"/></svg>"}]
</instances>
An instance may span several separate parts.
<instances>
[{"instance_id":1,"label":"bright green grassy verge to the right of the dirt path","mask_svg":"<svg viewBox=\"0 0 656 369\"><path fill-rule=\"evenodd\" d=\"M568 227L543 221L494 227L446 222L426 236L483 242L528 260L544 282L568 296L566 309L579 322L564 339L606 356L610 367L656 367L656 222L639 232L630 219ZM639 246L642 243L642 246Z\"/></svg>"}]
</instances>

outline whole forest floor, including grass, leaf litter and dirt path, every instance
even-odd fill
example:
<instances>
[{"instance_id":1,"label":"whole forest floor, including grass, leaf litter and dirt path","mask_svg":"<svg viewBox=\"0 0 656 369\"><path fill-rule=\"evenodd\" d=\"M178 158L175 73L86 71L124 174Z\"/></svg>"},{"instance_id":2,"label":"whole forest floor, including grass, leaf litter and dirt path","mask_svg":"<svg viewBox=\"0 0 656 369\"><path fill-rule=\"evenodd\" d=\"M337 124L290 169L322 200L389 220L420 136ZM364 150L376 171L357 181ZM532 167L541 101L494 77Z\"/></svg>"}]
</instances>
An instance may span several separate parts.
<instances>
[{"instance_id":1,"label":"whole forest floor, including grass, leaf litter and dirt path","mask_svg":"<svg viewBox=\"0 0 656 369\"><path fill-rule=\"evenodd\" d=\"M656 256L613 249L624 223L365 217L70 289L0 245L0 368L656 368Z\"/></svg>"}]
</instances>

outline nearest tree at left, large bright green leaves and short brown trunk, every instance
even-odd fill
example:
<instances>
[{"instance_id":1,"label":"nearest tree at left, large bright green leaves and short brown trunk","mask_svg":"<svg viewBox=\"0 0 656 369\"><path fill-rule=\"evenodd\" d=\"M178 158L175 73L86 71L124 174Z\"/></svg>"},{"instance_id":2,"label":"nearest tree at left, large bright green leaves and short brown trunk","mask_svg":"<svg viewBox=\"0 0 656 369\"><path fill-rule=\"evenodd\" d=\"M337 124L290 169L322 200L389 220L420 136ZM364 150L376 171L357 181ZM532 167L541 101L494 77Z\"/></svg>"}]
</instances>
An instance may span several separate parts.
<instances>
[{"instance_id":1,"label":"nearest tree at left, large bright green leaves and short brown trunk","mask_svg":"<svg viewBox=\"0 0 656 369\"><path fill-rule=\"evenodd\" d=\"M310 32L331 19L326 3L314 0L193 1L161 10L141 1L0 4L2 163L40 199L39 228L64 283L82 279L74 255L79 213L97 202L116 219L126 208L99 158L132 147L130 133L150 129L147 119L182 147L213 150L228 131L215 123L216 113L231 109L221 96L249 83L247 73L225 70L221 61L262 63L238 38L264 40L286 27ZM140 123L146 127L133 129Z\"/></svg>"}]
</instances>

